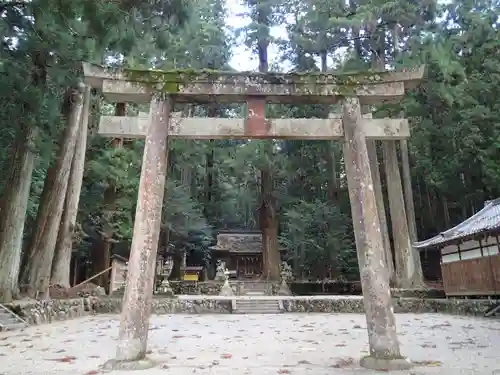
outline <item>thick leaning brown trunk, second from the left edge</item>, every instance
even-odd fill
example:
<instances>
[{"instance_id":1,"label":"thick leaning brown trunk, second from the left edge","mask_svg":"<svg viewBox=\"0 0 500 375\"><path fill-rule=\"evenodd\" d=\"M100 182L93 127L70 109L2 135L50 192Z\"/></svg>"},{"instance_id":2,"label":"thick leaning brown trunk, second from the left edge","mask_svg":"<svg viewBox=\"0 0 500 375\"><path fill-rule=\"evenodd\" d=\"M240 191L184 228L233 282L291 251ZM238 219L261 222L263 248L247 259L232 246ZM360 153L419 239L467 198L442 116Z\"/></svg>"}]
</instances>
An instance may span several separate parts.
<instances>
[{"instance_id":1,"label":"thick leaning brown trunk, second from the left edge","mask_svg":"<svg viewBox=\"0 0 500 375\"><path fill-rule=\"evenodd\" d=\"M40 205L38 206L35 231L27 248L27 264L23 270L23 281L28 293L34 297L48 292L50 271L61 222L64 199L71 170L76 135L83 109L83 85L66 92L63 113L66 117L57 153L56 164L49 168L45 179Z\"/></svg>"}]
</instances>

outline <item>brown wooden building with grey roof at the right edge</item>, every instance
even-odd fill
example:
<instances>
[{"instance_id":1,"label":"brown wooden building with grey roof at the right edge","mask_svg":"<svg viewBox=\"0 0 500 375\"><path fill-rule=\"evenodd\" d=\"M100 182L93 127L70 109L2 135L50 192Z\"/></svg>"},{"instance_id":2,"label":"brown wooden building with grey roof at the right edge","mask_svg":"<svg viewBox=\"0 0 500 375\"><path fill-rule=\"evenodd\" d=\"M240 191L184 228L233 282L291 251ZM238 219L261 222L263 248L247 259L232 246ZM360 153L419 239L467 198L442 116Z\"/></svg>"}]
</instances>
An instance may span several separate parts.
<instances>
[{"instance_id":1,"label":"brown wooden building with grey roof at the right edge","mask_svg":"<svg viewBox=\"0 0 500 375\"><path fill-rule=\"evenodd\" d=\"M414 244L439 251L447 296L500 295L500 198L457 226Z\"/></svg>"}]
</instances>

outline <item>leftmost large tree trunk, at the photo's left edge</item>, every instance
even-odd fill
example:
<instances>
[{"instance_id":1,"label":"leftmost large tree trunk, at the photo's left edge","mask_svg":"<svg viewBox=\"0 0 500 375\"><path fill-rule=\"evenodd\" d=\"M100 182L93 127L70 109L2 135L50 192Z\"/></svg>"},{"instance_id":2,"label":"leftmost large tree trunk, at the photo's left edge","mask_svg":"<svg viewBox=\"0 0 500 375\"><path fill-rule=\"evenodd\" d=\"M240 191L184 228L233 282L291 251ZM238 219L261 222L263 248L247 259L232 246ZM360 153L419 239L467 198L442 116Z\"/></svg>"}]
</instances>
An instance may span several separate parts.
<instances>
[{"instance_id":1,"label":"leftmost large tree trunk, at the photo's left edge","mask_svg":"<svg viewBox=\"0 0 500 375\"><path fill-rule=\"evenodd\" d=\"M36 130L22 131L18 137L0 215L1 302L18 297L24 223L35 166L32 141L36 137Z\"/></svg>"}]
</instances>

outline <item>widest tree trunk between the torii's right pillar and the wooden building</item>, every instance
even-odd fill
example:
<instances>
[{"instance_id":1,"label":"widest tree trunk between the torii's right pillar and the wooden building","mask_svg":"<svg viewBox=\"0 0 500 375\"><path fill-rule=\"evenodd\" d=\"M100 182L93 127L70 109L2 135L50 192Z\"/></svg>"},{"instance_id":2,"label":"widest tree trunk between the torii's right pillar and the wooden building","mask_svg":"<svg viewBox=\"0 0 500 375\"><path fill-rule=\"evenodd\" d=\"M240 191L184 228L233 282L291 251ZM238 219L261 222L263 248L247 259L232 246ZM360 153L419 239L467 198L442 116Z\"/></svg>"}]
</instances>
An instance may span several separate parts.
<instances>
[{"instance_id":1,"label":"widest tree trunk between the torii's right pillar and the wooden building","mask_svg":"<svg viewBox=\"0 0 500 375\"><path fill-rule=\"evenodd\" d=\"M418 272L419 268L421 269L420 258L417 266L415 251L408 231L396 141L384 141L382 146L396 259L397 284L400 288L421 287L423 286L422 273Z\"/></svg>"}]
</instances>

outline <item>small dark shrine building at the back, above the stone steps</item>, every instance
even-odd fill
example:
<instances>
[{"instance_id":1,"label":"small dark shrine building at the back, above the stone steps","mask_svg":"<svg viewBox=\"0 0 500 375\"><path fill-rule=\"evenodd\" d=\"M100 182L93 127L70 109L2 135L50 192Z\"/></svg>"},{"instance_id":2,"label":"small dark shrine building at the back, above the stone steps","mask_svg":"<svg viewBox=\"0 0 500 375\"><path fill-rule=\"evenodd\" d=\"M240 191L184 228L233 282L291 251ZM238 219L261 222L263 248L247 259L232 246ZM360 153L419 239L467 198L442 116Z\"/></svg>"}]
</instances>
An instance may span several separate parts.
<instances>
[{"instance_id":1,"label":"small dark shrine building at the back, above the stone steps","mask_svg":"<svg viewBox=\"0 0 500 375\"><path fill-rule=\"evenodd\" d=\"M210 249L212 267L223 262L230 277L244 281L256 280L261 276L261 231L221 230L217 233L217 244Z\"/></svg>"}]
</instances>

